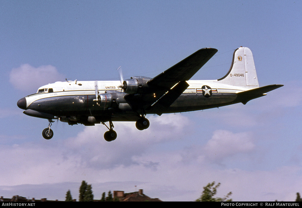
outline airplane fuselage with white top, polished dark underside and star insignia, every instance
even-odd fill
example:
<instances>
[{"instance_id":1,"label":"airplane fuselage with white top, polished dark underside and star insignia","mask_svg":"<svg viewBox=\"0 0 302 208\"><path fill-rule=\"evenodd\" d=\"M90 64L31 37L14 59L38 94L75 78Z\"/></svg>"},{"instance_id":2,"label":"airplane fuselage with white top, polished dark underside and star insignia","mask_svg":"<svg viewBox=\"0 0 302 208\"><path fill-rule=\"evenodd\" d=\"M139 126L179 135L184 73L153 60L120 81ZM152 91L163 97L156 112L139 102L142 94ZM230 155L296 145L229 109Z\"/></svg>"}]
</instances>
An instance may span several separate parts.
<instances>
[{"instance_id":1,"label":"airplane fuselage with white top, polished dark underside and star insignia","mask_svg":"<svg viewBox=\"0 0 302 208\"><path fill-rule=\"evenodd\" d=\"M189 80L189 87L162 113L188 112L226 106L235 103L236 94L248 90L246 86L231 86L217 80ZM98 93L117 92L126 95L119 87L120 81L99 81ZM207 86L206 89L203 86ZM255 88L251 86L249 89ZM42 92L44 90L44 92ZM50 90L51 89L51 90ZM119 96L116 103L123 106L118 111L96 105L94 81L56 82L39 88L38 92L25 97L25 110L60 116L111 116L113 121L136 121L136 113ZM152 110L146 112L153 114ZM106 120L106 119L104 119Z\"/></svg>"}]
</instances>

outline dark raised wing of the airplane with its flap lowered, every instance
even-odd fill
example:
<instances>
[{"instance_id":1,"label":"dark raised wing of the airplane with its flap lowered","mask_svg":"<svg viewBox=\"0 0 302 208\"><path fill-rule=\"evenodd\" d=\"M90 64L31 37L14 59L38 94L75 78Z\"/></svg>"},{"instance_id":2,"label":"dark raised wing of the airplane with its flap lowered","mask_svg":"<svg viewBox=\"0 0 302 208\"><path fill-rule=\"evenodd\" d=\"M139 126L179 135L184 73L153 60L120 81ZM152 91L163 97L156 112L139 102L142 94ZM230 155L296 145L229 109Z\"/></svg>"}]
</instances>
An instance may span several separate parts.
<instances>
[{"instance_id":1,"label":"dark raised wing of the airplane with its flap lowered","mask_svg":"<svg viewBox=\"0 0 302 208\"><path fill-rule=\"evenodd\" d=\"M173 67L147 81L149 93L127 95L125 99L134 111L146 109L160 115L163 109L172 105L187 89L188 83L186 81L207 63L216 52L217 49L214 48L203 48L196 51Z\"/></svg>"}]
</instances>

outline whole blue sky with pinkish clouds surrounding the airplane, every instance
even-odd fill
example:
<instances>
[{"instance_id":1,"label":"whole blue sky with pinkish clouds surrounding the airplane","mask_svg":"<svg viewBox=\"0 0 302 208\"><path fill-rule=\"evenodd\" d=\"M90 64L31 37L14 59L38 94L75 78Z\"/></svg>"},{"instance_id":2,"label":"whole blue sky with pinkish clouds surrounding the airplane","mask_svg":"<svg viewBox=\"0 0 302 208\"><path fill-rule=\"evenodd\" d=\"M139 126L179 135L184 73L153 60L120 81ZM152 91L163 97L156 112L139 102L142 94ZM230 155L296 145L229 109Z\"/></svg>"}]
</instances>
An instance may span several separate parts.
<instances>
[{"instance_id":1,"label":"whole blue sky with pinkish clouds surrounding the airplane","mask_svg":"<svg viewBox=\"0 0 302 208\"><path fill-rule=\"evenodd\" d=\"M293 201L302 192L300 1L1 1L0 195L96 199L143 189L164 201L193 201L207 183L236 201ZM150 127L55 122L24 115L18 99L55 81L154 77L204 47L217 54L192 79L229 70L249 47L260 86L284 84L246 105L149 115ZM136 186L136 187L135 187Z\"/></svg>"}]
</instances>

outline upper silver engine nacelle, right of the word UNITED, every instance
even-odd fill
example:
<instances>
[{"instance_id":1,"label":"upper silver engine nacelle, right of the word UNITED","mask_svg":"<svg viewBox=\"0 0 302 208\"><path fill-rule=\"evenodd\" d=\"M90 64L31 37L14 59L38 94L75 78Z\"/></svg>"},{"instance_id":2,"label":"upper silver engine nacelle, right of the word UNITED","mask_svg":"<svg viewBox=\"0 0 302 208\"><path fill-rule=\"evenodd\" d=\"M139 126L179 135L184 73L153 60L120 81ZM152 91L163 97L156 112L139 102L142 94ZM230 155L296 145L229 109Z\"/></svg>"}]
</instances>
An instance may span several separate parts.
<instances>
[{"instance_id":1,"label":"upper silver engine nacelle, right of the word UNITED","mask_svg":"<svg viewBox=\"0 0 302 208\"><path fill-rule=\"evenodd\" d=\"M121 86L127 94L140 94L148 91L147 82L151 80L149 77L134 76L131 79L125 80Z\"/></svg>"}]
</instances>

